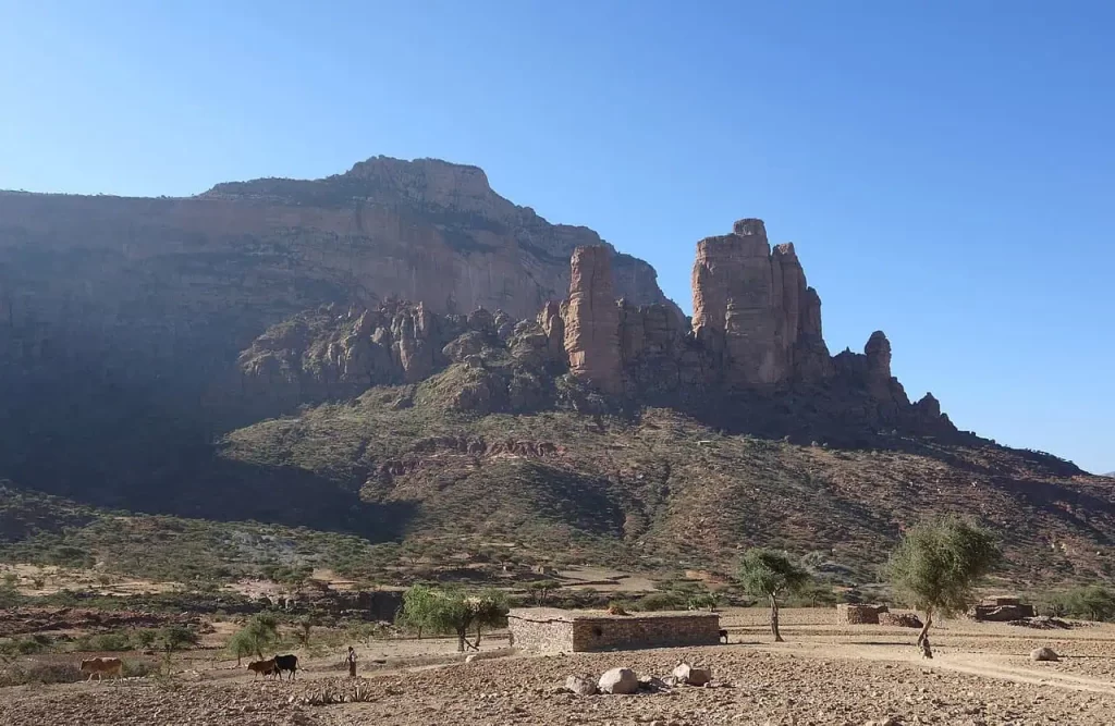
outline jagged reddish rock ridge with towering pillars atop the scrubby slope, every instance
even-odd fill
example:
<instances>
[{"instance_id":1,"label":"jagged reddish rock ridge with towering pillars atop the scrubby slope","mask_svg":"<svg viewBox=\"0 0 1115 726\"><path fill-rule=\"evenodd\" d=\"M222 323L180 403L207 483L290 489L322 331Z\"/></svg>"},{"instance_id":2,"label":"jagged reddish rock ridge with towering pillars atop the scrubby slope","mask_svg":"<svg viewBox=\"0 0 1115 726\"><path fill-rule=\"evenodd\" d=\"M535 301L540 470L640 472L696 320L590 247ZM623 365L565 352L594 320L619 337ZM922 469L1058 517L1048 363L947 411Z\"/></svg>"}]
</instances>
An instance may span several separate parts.
<instances>
[{"instance_id":1,"label":"jagged reddish rock ridge with towering pillars atop the scrubby slope","mask_svg":"<svg viewBox=\"0 0 1115 726\"><path fill-rule=\"evenodd\" d=\"M426 394L481 413L576 407L595 391L618 406L680 407L728 428L803 438L958 434L931 395L911 404L881 331L862 354L828 355L820 297L793 245L772 250L762 221L698 243L691 326L669 306L617 299L611 260L601 245L574 250L569 298L529 320L394 303L279 326L242 355L243 389L289 404L446 370Z\"/></svg>"}]
</instances>

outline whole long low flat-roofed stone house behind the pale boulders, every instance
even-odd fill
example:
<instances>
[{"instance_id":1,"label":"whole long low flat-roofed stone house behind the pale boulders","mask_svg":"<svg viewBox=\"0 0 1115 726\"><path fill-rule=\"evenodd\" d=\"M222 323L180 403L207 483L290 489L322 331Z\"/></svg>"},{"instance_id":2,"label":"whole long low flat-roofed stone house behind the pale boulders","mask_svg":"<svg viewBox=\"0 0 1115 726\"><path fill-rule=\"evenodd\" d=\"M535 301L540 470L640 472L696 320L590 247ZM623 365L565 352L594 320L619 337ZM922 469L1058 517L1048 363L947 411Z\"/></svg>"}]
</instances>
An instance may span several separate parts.
<instances>
[{"instance_id":1,"label":"whole long low flat-roofed stone house behind the pale boulders","mask_svg":"<svg viewBox=\"0 0 1115 726\"><path fill-rule=\"evenodd\" d=\"M715 612L640 612L513 608L507 614L512 646L537 652L585 652L715 646L720 616Z\"/></svg>"}]
</instances>

